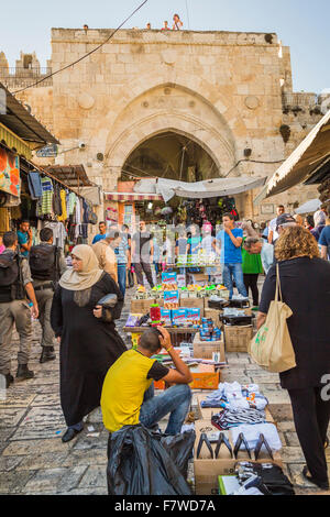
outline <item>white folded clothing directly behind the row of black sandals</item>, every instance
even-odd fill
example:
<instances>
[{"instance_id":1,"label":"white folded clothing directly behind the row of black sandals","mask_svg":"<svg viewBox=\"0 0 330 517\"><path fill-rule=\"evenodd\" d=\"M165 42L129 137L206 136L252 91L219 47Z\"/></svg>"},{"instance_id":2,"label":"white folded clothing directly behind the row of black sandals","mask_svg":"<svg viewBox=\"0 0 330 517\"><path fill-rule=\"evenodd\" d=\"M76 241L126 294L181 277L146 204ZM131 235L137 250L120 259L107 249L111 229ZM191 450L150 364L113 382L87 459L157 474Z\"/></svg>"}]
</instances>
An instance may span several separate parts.
<instances>
[{"instance_id":1,"label":"white folded clothing directly behind the row of black sandals","mask_svg":"<svg viewBox=\"0 0 330 517\"><path fill-rule=\"evenodd\" d=\"M237 442L240 433L242 432L250 450L255 449L260 435L264 435L265 440L273 451L279 451L282 449L282 442L274 424L255 424L254 426L243 425L234 427L230 432L233 443Z\"/></svg>"}]
</instances>

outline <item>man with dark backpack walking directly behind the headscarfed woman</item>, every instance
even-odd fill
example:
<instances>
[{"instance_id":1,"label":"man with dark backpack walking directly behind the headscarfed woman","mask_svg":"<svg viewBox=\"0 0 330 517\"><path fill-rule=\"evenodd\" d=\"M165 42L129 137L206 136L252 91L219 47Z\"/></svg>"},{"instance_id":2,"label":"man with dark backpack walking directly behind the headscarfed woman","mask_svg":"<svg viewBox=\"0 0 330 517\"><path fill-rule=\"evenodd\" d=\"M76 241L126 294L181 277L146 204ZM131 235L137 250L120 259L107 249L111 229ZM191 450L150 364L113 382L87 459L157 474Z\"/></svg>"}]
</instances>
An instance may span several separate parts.
<instances>
[{"instance_id":1,"label":"man with dark backpack walking directly behind the headscarfed woman","mask_svg":"<svg viewBox=\"0 0 330 517\"><path fill-rule=\"evenodd\" d=\"M40 362L46 363L56 359L51 308L56 284L67 266L62 250L53 245L54 234L51 228L41 230L40 240L41 244L31 248L29 263L43 330Z\"/></svg>"}]
</instances>

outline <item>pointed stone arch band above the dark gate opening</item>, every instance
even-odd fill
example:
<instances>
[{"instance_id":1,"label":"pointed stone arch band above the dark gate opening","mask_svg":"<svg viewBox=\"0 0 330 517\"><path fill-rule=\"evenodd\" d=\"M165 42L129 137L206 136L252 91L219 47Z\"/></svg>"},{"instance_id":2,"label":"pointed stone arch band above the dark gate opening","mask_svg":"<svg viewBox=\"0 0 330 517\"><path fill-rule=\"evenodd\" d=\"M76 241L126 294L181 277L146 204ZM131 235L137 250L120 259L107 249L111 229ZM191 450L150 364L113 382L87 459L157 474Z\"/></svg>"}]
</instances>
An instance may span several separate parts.
<instances>
[{"instance_id":1,"label":"pointed stone arch band above the dark gate opening","mask_svg":"<svg viewBox=\"0 0 330 517\"><path fill-rule=\"evenodd\" d=\"M182 134L212 158L219 176L237 163L233 134L210 102L178 85L160 85L140 95L108 130L103 186L113 189L128 156L144 141L163 132Z\"/></svg>"}]
</instances>

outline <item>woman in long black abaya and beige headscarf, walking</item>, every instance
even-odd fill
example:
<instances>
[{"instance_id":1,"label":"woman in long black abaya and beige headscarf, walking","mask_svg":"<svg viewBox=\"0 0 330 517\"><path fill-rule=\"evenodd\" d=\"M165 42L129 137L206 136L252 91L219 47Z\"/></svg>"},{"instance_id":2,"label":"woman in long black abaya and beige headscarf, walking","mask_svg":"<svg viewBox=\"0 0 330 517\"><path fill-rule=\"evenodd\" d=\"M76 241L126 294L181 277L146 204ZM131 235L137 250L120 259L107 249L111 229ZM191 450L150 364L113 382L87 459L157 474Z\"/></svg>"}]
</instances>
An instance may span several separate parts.
<instances>
[{"instance_id":1,"label":"woman in long black abaya and beige headscarf, walking","mask_svg":"<svg viewBox=\"0 0 330 517\"><path fill-rule=\"evenodd\" d=\"M112 309L98 306L114 294ZM100 405L105 376L127 348L116 330L123 296L108 273L99 270L90 246L73 250L73 270L59 280L51 314L52 327L61 342L61 405L68 429L63 442L84 428L82 418Z\"/></svg>"}]
</instances>

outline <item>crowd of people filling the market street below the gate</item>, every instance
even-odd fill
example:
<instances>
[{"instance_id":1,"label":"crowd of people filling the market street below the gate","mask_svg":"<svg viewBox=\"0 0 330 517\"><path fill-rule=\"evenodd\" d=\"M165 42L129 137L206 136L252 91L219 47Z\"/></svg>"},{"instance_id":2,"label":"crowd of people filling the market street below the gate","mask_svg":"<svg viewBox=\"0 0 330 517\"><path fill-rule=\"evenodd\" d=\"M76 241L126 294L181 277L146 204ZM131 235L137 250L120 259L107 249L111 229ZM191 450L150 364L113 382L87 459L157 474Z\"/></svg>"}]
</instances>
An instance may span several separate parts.
<instances>
[{"instance_id":1,"label":"crowd of people filling the market street below the gate","mask_svg":"<svg viewBox=\"0 0 330 517\"><path fill-rule=\"evenodd\" d=\"M278 263L283 300L293 310L288 328L297 359L295 369L280 374L280 383L292 399L307 461L304 475L324 488L329 486L324 443L330 400L321 389L322 378L330 373L329 223L326 207L304 220L278 206L276 219L261 228L226 213L219 230L208 222L202 229L182 226L174 239L161 232L160 243L145 221L133 234L127 226L107 227L101 221L92 244L76 245L65 258L54 245L52 229L41 230L41 242L33 246L30 223L22 221L19 232L4 233L0 243L0 374L10 387L15 324L20 336L16 381L33 378L29 369L32 316L42 326L41 363L54 361L55 338L61 343L61 404L67 424L63 442L84 429L84 417L100 404L110 433L139 422L155 429L166 414L170 414L166 432L178 433L190 404L191 375L162 327L146 330L138 349L127 350L116 320L124 304L128 273L133 267L138 284L143 284L144 274L153 287L152 264L160 273L180 254L213 253L230 298L234 286L243 297L251 289L260 328L275 296ZM263 273L260 300L257 278ZM174 369L152 359L162 348ZM152 383L160 380L173 386L155 397Z\"/></svg>"}]
</instances>

